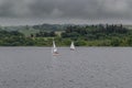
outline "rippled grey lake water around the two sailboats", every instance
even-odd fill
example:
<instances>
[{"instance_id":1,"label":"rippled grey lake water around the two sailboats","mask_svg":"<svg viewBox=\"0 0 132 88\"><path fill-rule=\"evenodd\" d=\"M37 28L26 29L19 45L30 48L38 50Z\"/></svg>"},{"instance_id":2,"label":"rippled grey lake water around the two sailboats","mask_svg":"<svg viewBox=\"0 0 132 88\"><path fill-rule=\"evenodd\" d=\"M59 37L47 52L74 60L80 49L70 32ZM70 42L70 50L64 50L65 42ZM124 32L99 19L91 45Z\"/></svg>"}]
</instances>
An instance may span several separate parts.
<instances>
[{"instance_id":1,"label":"rippled grey lake water around the two sailboats","mask_svg":"<svg viewBox=\"0 0 132 88\"><path fill-rule=\"evenodd\" d=\"M0 88L131 88L131 47L0 47Z\"/></svg>"}]
</instances>

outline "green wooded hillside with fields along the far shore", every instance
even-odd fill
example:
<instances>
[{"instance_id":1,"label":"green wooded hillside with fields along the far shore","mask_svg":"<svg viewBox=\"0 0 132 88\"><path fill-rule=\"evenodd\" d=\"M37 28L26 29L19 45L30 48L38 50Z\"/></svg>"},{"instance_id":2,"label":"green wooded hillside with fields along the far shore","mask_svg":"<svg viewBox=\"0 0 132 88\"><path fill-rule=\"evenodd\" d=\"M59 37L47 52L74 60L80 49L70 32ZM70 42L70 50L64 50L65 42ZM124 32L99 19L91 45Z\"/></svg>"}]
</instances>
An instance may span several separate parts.
<instances>
[{"instance_id":1,"label":"green wooded hillside with fields along the far shore","mask_svg":"<svg viewBox=\"0 0 132 88\"><path fill-rule=\"evenodd\" d=\"M132 46L132 30L122 24L0 26L1 46Z\"/></svg>"}]
</instances>

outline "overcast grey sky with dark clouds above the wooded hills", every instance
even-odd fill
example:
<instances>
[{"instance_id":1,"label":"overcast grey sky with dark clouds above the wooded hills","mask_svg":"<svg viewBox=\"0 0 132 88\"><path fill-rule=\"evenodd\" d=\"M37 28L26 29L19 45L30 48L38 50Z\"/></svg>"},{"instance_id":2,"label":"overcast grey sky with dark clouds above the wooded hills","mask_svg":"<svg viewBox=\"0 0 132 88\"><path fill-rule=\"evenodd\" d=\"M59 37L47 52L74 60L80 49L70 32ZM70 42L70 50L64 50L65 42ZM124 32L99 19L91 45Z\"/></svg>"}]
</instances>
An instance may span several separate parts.
<instances>
[{"instance_id":1,"label":"overcast grey sky with dark clouds above the wooded hills","mask_svg":"<svg viewBox=\"0 0 132 88\"><path fill-rule=\"evenodd\" d=\"M132 0L0 0L0 24L131 23Z\"/></svg>"}]
</instances>

